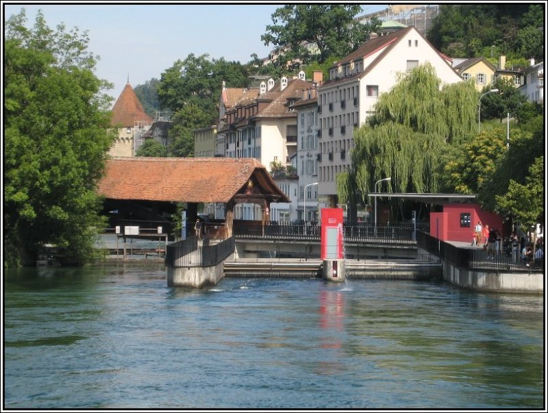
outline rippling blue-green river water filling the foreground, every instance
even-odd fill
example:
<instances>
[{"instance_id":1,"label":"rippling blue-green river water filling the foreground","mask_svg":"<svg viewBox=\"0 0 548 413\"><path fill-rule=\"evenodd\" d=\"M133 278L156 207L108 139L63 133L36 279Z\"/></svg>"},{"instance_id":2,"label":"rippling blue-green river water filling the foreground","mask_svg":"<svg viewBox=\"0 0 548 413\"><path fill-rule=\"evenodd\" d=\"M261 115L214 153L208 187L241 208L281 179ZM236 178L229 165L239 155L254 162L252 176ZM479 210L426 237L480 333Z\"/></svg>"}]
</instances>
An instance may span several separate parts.
<instances>
[{"instance_id":1,"label":"rippling blue-green river water filling the foreground","mask_svg":"<svg viewBox=\"0 0 548 413\"><path fill-rule=\"evenodd\" d=\"M543 408L544 305L441 282L4 273L4 407Z\"/></svg>"}]
</instances>

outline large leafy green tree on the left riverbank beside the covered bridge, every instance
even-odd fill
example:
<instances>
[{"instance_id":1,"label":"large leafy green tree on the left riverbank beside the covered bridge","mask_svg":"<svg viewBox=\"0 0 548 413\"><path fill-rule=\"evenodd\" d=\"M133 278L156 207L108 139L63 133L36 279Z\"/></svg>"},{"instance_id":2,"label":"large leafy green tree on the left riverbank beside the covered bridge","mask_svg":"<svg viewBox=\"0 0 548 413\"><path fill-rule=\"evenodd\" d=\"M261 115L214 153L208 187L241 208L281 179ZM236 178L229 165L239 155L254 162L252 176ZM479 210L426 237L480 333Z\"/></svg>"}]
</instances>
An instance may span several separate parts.
<instances>
[{"instance_id":1,"label":"large leafy green tree on the left riverbank beside the covered bridge","mask_svg":"<svg viewBox=\"0 0 548 413\"><path fill-rule=\"evenodd\" d=\"M95 188L114 139L101 92L112 86L93 73L86 32L53 31L42 12L26 23L22 10L4 32L5 263L34 265L52 243L82 264L104 225Z\"/></svg>"}]
</instances>

